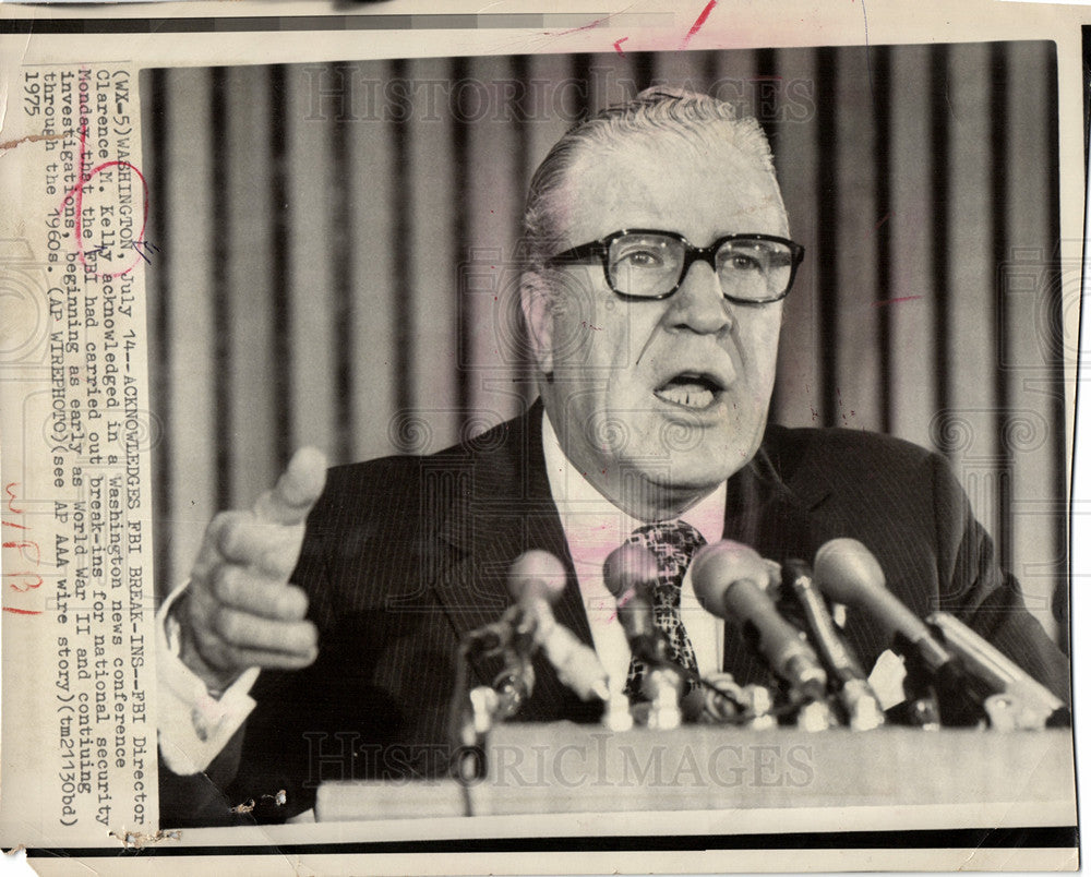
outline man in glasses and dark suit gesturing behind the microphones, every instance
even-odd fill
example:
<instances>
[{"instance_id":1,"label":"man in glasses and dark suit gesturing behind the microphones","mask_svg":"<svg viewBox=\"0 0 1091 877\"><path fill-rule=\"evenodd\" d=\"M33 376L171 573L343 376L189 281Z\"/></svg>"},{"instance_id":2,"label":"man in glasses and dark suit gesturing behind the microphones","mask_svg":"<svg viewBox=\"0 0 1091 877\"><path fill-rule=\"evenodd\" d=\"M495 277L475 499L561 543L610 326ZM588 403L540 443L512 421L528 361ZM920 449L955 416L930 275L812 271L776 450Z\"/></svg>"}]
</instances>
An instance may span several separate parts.
<instances>
[{"instance_id":1,"label":"man in glasses and dark suit gesturing behind the microphones","mask_svg":"<svg viewBox=\"0 0 1091 877\"><path fill-rule=\"evenodd\" d=\"M161 612L165 825L227 822L248 800L280 819L324 780L442 773L459 645L504 614L509 567L531 550L563 565L553 615L614 690L638 692L649 670L603 574L620 545L658 561L672 662L775 688L747 639L698 605L690 563L726 539L781 563L849 538L913 614L950 613L1067 700L1066 659L939 456L767 423L803 248L756 121L669 88L599 112L539 167L524 243L529 410L427 457L326 472L303 449L252 509L211 522ZM865 611L842 627L868 672L892 645ZM532 666L517 721L600 718L542 654ZM469 684L502 670L478 656Z\"/></svg>"}]
</instances>

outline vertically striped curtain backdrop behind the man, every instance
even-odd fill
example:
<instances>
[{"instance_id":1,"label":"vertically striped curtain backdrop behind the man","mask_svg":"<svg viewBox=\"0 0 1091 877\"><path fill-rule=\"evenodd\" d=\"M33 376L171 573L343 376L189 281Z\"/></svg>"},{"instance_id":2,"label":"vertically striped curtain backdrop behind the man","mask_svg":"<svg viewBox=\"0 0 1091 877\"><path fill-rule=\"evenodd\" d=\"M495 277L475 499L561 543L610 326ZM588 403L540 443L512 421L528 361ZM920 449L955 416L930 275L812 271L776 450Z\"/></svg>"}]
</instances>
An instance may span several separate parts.
<instances>
[{"instance_id":1,"label":"vertically striped curtain backdrop behind the man","mask_svg":"<svg viewBox=\"0 0 1091 877\"><path fill-rule=\"evenodd\" d=\"M654 82L740 103L777 156L807 256L771 419L946 454L1054 630L1047 43L145 72L160 593L215 510L249 505L293 448L334 464L427 453L525 408L509 293L527 182L579 116Z\"/></svg>"}]
</instances>

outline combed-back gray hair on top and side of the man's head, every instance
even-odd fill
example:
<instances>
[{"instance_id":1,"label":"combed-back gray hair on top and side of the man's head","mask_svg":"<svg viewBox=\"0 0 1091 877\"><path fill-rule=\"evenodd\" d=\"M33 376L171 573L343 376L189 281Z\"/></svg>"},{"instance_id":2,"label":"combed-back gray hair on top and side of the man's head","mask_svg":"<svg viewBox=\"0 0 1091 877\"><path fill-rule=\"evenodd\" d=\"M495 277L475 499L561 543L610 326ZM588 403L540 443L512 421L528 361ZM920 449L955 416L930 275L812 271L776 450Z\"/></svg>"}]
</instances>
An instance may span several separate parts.
<instances>
[{"instance_id":1,"label":"combed-back gray hair on top and side of the man's head","mask_svg":"<svg viewBox=\"0 0 1091 877\"><path fill-rule=\"evenodd\" d=\"M714 134L712 128L720 122L727 125ZM618 148L632 135L656 132L681 136L699 147L722 143L723 128L728 131L729 143L775 176L769 142L756 119L740 118L731 104L684 88L652 86L632 100L607 107L575 124L553 145L530 180L523 214L523 253L527 268L544 274L549 259L556 254L561 241L558 227L561 212L556 197L584 147ZM776 191L779 193L779 187Z\"/></svg>"}]
</instances>

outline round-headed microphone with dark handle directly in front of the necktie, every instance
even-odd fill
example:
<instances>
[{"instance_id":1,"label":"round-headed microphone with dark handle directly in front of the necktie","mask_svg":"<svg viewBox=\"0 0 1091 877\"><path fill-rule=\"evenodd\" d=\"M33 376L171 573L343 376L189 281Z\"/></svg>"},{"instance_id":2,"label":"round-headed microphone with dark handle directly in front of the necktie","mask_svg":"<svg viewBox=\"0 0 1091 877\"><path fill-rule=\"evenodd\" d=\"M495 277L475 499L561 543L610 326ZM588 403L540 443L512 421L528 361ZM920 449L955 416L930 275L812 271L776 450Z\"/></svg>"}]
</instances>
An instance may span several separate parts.
<instances>
[{"instance_id":1,"label":"round-headed microphone with dark handle directly in front of the necktie","mask_svg":"<svg viewBox=\"0 0 1091 877\"><path fill-rule=\"evenodd\" d=\"M651 592L659 580L659 563L648 549L626 542L610 552L602 565L602 580L618 602L618 621L628 648L651 666L670 663L667 638L656 626Z\"/></svg>"}]
</instances>

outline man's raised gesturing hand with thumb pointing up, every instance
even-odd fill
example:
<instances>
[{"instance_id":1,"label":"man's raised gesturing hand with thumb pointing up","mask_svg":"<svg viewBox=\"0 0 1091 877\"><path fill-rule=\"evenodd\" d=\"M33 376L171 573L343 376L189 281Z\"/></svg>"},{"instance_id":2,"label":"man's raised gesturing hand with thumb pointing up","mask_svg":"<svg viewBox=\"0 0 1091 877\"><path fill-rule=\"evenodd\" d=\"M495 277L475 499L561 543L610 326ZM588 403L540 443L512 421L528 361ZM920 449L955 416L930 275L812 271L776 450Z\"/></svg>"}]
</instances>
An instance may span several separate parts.
<instances>
[{"instance_id":1,"label":"man's raised gesturing hand with thumb pointing up","mask_svg":"<svg viewBox=\"0 0 1091 877\"><path fill-rule=\"evenodd\" d=\"M182 661L209 688L249 666L298 670L317 657L307 594L288 576L325 478L322 453L301 448L250 512L221 512L205 530L177 617Z\"/></svg>"}]
</instances>

